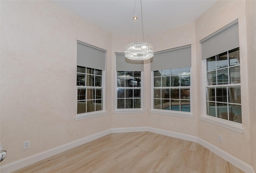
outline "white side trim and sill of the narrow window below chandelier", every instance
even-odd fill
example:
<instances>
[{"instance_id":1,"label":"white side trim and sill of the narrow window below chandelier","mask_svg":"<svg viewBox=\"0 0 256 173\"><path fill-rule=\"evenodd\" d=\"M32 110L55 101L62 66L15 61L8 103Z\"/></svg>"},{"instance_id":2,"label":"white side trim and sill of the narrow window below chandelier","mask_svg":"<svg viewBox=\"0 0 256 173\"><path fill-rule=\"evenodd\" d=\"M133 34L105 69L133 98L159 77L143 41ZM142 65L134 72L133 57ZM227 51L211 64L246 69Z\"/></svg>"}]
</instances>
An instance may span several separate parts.
<instances>
[{"instance_id":1,"label":"white side trim and sill of the narrow window below chandelier","mask_svg":"<svg viewBox=\"0 0 256 173\"><path fill-rule=\"evenodd\" d=\"M127 108L117 108L117 71L116 71L116 75L115 75L115 86L116 86L116 89L115 89L115 110L114 110L114 113L115 114L122 114L122 113L144 113L145 110L143 109L143 83L144 83L144 73L143 71L140 71L141 73L141 86L140 86L140 99L141 99L141 108L130 108L130 109L127 109ZM136 88L134 88L136 89Z\"/></svg>"}]
</instances>

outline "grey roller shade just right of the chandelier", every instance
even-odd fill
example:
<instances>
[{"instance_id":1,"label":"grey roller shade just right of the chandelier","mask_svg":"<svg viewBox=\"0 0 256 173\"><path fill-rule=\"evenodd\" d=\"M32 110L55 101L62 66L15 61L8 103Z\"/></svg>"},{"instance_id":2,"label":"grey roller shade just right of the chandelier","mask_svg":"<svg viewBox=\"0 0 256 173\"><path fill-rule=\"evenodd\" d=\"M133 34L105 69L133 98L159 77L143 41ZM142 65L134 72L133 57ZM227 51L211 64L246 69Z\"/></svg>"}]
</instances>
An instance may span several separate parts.
<instances>
[{"instance_id":1,"label":"grey roller shade just right of the chandelier","mask_svg":"<svg viewBox=\"0 0 256 173\"><path fill-rule=\"evenodd\" d=\"M151 71L191 67L191 45L154 53Z\"/></svg>"}]
</instances>

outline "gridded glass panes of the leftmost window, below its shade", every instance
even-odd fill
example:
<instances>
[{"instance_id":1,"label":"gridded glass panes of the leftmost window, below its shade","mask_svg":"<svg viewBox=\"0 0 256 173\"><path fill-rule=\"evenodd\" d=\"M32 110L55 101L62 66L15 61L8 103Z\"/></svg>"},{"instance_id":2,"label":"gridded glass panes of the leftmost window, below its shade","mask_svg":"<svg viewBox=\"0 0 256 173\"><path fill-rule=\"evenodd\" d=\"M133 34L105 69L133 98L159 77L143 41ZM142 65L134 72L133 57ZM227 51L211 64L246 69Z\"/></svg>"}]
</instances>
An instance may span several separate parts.
<instances>
[{"instance_id":1,"label":"gridded glass panes of the leftmost window, below its shade","mask_svg":"<svg viewBox=\"0 0 256 173\"><path fill-rule=\"evenodd\" d=\"M77 66L77 114L102 110L102 70Z\"/></svg>"}]
</instances>

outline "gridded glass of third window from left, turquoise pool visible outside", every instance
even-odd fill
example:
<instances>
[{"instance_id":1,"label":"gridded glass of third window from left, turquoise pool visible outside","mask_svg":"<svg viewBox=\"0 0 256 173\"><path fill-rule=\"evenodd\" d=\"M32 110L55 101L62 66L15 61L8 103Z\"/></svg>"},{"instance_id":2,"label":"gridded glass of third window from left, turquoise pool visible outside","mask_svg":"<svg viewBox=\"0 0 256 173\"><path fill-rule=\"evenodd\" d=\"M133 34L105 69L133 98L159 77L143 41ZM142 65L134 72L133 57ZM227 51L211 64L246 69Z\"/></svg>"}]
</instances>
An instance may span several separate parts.
<instances>
[{"instance_id":1,"label":"gridded glass of third window from left, turquoise pool visible outside","mask_svg":"<svg viewBox=\"0 0 256 173\"><path fill-rule=\"evenodd\" d=\"M154 71L154 109L190 112L190 67Z\"/></svg>"}]
</instances>

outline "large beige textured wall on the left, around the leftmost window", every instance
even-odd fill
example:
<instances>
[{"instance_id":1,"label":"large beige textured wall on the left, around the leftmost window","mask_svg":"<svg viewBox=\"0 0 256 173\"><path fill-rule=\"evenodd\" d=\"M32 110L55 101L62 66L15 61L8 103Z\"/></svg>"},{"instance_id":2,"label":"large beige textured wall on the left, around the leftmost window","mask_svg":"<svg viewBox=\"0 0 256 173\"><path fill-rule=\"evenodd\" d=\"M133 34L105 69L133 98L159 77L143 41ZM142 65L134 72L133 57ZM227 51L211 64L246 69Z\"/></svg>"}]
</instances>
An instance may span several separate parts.
<instances>
[{"instance_id":1,"label":"large beige textured wall on the left, around the leftmost window","mask_svg":"<svg viewBox=\"0 0 256 173\"><path fill-rule=\"evenodd\" d=\"M49 1L1 1L1 165L111 128L110 115L74 120L76 40L106 49L109 64L110 33Z\"/></svg>"}]
</instances>

